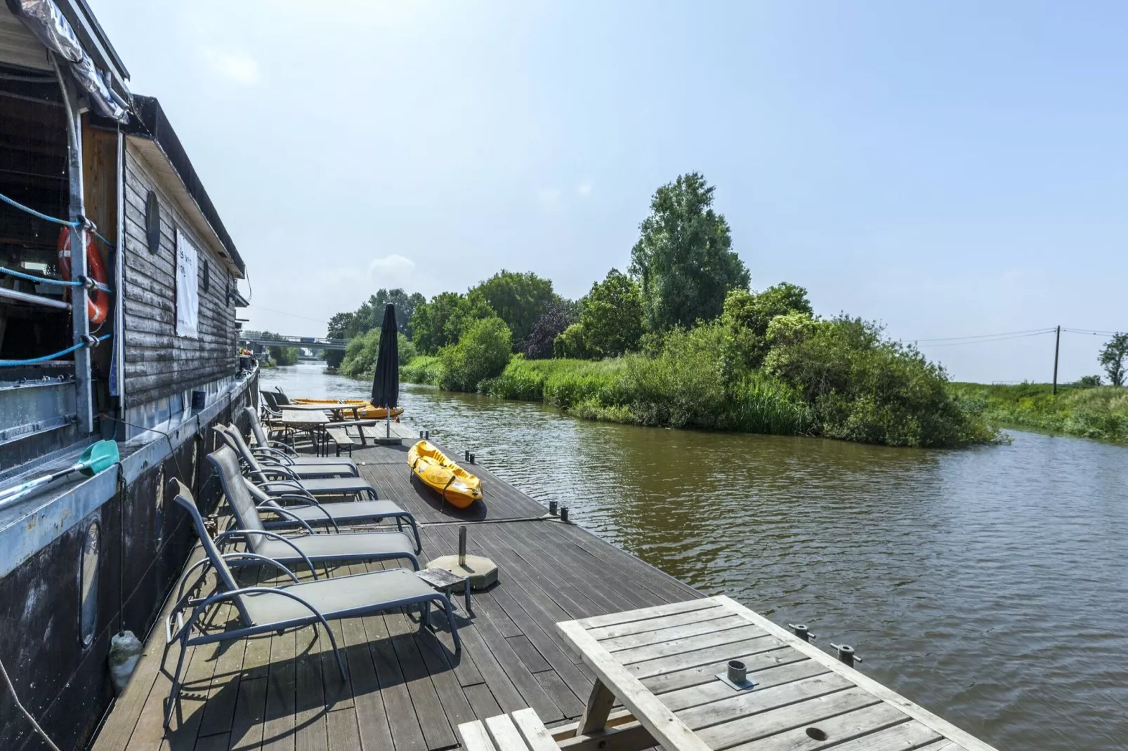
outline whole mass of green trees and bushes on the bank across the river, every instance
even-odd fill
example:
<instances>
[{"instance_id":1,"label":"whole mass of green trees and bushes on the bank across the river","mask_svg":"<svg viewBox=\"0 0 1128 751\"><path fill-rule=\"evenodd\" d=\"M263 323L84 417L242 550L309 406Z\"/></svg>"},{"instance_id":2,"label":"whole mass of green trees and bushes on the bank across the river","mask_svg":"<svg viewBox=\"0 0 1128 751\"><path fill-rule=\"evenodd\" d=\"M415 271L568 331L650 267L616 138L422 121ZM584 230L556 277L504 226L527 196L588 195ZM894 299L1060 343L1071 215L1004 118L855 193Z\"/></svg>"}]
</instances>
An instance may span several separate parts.
<instances>
[{"instance_id":1,"label":"whole mass of green trees and bushes on the bank across the river","mask_svg":"<svg viewBox=\"0 0 1128 751\"><path fill-rule=\"evenodd\" d=\"M816 316L801 286L752 291L713 194L698 174L659 188L628 272L610 270L576 302L503 270L428 301L381 290L329 333L374 328L377 297L395 297L411 302L405 381L640 425L911 447L995 440L916 348L858 318ZM368 329L354 334L343 373L374 368L379 335Z\"/></svg>"}]
</instances>

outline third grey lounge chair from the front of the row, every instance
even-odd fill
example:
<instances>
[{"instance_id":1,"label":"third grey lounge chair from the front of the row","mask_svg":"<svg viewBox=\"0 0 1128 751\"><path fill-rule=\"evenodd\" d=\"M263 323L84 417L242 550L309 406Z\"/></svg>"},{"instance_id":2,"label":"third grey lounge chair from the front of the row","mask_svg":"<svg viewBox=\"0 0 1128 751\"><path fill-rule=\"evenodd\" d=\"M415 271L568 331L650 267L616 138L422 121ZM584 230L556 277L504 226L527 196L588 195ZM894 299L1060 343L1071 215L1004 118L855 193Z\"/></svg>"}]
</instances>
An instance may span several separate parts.
<instances>
[{"instance_id":1,"label":"third grey lounge chair from the front of the row","mask_svg":"<svg viewBox=\"0 0 1128 751\"><path fill-rule=\"evenodd\" d=\"M267 495L257 485L246 477L235 477L233 481L243 481L247 486L247 492L255 500L255 506L259 514L270 514L273 521L264 520L266 529L279 527L300 527L309 529L314 527L332 527L335 531L341 531L341 524L355 522L381 522L385 519L394 519L396 529L404 531L404 522L411 524L412 533L415 537L415 553L422 553L423 544L420 541L420 530L415 524L415 516L409 511L400 509L395 501L354 501L352 503L319 503L317 498L306 495ZM220 475L220 481L226 486L231 479Z\"/></svg>"}]
</instances>

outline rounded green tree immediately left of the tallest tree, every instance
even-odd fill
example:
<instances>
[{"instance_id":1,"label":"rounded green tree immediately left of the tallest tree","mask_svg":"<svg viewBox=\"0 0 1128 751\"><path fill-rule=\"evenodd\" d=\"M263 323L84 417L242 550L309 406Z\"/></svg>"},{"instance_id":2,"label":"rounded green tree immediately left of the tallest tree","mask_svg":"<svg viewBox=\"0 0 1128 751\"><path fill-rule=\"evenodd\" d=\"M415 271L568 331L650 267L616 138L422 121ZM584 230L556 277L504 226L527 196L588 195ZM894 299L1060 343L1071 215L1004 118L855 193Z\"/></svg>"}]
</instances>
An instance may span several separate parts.
<instances>
[{"instance_id":1,"label":"rounded green tree immediately left of the tallest tree","mask_svg":"<svg viewBox=\"0 0 1128 751\"><path fill-rule=\"evenodd\" d=\"M643 315L638 284L613 268L580 301L585 347L596 357L617 357L634 350L643 334Z\"/></svg>"}]
</instances>

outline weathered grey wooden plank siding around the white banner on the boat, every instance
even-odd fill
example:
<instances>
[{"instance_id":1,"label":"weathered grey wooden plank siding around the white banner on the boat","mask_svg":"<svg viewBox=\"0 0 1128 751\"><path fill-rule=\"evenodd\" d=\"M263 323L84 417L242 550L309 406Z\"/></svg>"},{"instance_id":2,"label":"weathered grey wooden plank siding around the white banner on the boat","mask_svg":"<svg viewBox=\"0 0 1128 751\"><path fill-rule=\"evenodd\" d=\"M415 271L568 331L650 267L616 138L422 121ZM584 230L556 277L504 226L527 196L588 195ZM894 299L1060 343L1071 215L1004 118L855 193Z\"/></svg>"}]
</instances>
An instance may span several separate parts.
<instances>
[{"instance_id":1,"label":"weathered grey wooden plank siding around the white banner on the boat","mask_svg":"<svg viewBox=\"0 0 1128 751\"><path fill-rule=\"evenodd\" d=\"M160 248L150 253L146 198L160 203ZM238 368L235 308L227 300L230 275L152 177L146 158L125 149L125 405L148 404L193 386L231 376ZM200 338L176 336L176 230L200 251ZM204 264L211 285L203 289Z\"/></svg>"}]
</instances>

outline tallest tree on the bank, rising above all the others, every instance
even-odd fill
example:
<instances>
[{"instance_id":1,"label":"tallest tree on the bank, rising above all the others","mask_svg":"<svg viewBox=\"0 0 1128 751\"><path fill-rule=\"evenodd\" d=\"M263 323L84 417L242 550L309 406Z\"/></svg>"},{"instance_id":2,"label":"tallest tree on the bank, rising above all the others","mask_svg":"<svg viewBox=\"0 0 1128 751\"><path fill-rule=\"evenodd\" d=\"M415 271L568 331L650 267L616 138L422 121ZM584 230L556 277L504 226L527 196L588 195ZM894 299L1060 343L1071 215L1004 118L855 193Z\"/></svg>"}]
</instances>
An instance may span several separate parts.
<instances>
[{"instance_id":1,"label":"tallest tree on the bank, rising above all the others","mask_svg":"<svg viewBox=\"0 0 1128 751\"><path fill-rule=\"evenodd\" d=\"M729 290L748 289L729 222L713 211L714 191L699 173L681 175L658 188L650 217L638 226L631 273L642 286L652 330L712 320Z\"/></svg>"}]
</instances>

